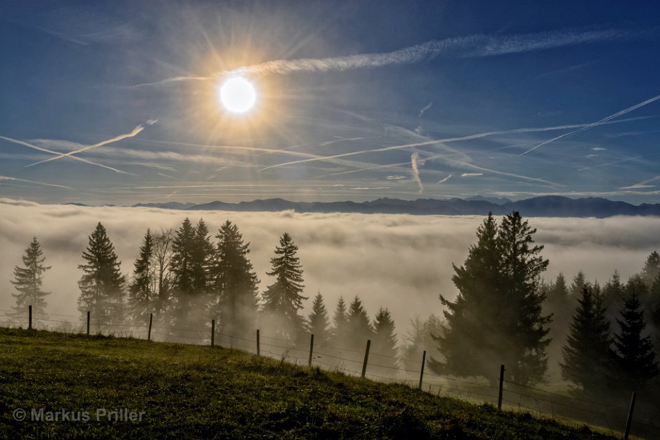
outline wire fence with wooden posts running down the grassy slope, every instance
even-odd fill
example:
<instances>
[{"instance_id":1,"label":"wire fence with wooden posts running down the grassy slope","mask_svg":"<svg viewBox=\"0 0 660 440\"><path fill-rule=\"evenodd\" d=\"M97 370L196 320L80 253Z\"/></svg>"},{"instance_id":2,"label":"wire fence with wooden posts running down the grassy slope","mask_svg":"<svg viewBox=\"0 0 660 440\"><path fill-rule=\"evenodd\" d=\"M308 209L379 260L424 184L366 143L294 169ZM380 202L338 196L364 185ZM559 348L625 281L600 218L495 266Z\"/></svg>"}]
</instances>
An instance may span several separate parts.
<instances>
[{"instance_id":1,"label":"wire fence with wooden posts running down the grassy slope","mask_svg":"<svg viewBox=\"0 0 660 440\"><path fill-rule=\"evenodd\" d=\"M57 318L57 319L53 319ZM500 398L499 377L495 376L498 366L494 365L494 380L473 378L465 380L450 375L439 375L425 368L421 371L421 358L413 360L401 356L369 351L354 347L336 347L334 345L314 345L294 342L288 338L270 336L255 332L254 338L242 335L225 334L215 328L211 335L211 326L181 327L156 321L136 321L135 319L115 320L113 323L98 325L86 316L67 314L42 314L42 317L17 316L12 310L0 310L0 326L8 328L26 328L47 331L80 334L104 334L133 338L149 338L155 341L186 343L195 345L214 345L230 349L239 349L251 354L259 354L298 365L311 365L326 371L344 373L355 377L369 378L377 382L404 384L421 389L426 393L443 397L457 397L475 404L498 404ZM89 330L88 330L89 329ZM366 340L364 341L367 345ZM297 345L296 345L297 344ZM366 355L366 356L365 356ZM365 359L368 358L368 359ZM311 360L311 361L310 361ZM365 363L366 361L366 363ZM419 369L404 368L401 365L419 364ZM428 364L426 365L428 367ZM486 383L487 382L487 383ZM493 383L497 384L496 386ZM630 433L642 439L660 438L659 413L656 413L657 396L643 396L635 406ZM589 424L606 432L619 435L626 427L628 402L598 402L583 397L543 389L509 380L503 381L502 408L528 412L538 417L547 417L573 425Z\"/></svg>"}]
</instances>

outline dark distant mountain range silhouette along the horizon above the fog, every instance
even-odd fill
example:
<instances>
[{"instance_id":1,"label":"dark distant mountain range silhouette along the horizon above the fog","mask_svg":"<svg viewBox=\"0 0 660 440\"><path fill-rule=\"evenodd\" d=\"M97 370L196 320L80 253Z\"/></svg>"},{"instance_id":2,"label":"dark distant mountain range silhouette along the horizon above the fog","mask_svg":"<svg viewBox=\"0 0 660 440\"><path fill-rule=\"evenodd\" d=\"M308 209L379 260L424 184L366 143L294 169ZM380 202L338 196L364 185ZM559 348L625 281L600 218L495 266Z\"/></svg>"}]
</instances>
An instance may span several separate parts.
<instances>
[{"instance_id":1,"label":"dark distant mountain range silhouette along the horizon above the fog","mask_svg":"<svg viewBox=\"0 0 660 440\"><path fill-rule=\"evenodd\" d=\"M190 202L138 203L133 207L153 207L163 209L210 210L210 211L286 211L296 212L346 212L346 213L406 213L416 215L442 214L480 215L489 211L503 215L520 211L526 217L611 217L611 216L660 216L660 204L631 205L606 198L568 198L563 196L541 196L518 200L473 196L467 199L451 198L437 200L418 198L400 200L398 198L378 198L370 202L291 202L283 198L252 200L251 202L209 202L194 205Z\"/></svg>"}]
</instances>

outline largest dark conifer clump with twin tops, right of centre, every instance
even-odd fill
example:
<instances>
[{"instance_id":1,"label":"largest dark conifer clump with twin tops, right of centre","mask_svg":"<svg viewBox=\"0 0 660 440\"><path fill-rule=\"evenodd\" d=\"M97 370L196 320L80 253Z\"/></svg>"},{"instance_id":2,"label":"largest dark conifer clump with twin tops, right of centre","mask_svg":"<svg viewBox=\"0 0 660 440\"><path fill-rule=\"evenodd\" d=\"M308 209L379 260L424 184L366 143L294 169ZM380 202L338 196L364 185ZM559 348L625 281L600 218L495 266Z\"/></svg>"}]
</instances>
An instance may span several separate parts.
<instances>
[{"instance_id":1,"label":"largest dark conifer clump with twin tops, right of centre","mask_svg":"<svg viewBox=\"0 0 660 440\"><path fill-rule=\"evenodd\" d=\"M499 227L489 214L478 228L464 266L454 266L459 296L454 302L441 297L447 324L438 340L445 360L432 358L433 371L490 378L495 363L507 365L516 382L543 379L550 317L542 314L539 283L548 261L534 233L518 212Z\"/></svg>"}]
</instances>

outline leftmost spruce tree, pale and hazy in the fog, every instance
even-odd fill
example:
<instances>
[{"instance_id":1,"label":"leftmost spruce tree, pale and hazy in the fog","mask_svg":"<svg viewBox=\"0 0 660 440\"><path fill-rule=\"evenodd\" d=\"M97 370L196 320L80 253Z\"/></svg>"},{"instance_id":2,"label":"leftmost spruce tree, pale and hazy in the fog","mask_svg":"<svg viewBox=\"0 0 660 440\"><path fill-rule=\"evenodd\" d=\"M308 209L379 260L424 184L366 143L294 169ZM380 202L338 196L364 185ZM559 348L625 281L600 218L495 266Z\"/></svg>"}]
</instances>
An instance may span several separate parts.
<instances>
[{"instance_id":1,"label":"leftmost spruce tree, pale and hazy in the fog","mask_svg":"<svg viewBox=\"0 0 660 440\"><path fill-rule=\"evenodd\" d=\"M28 306L32 305L32 313L34 316L47 319L45 314L46 301L45 297L50 292L41 290L43 283L43 273L49 270L51 266L44 266L45 257L41 251L41 244L32 238L30 246L25 249L23 255L24 268L14 266L14 279L12 284L17 290L17 294L12 293L12 297L16 299L16 304L12 306L14 312L11 316L17 319L28 319Z\"/></svg>"}]
</instances>

